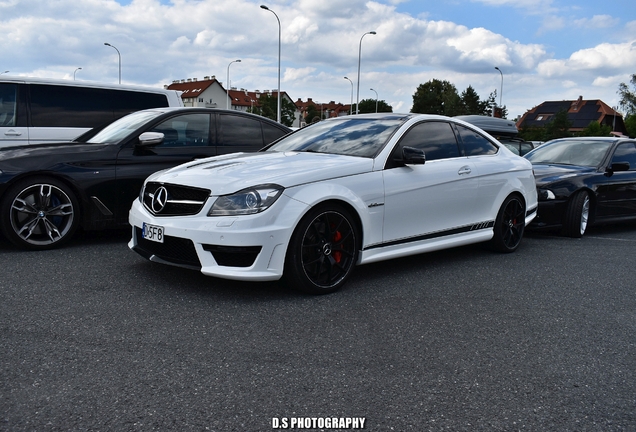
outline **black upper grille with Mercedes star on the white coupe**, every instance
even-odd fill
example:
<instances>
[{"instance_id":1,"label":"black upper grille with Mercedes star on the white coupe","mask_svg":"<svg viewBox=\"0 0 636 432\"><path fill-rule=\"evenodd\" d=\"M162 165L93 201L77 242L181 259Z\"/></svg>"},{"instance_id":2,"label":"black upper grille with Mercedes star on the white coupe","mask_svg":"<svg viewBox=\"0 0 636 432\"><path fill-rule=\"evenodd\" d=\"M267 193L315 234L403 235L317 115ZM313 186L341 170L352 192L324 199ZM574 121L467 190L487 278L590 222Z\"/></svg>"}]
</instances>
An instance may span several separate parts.
<instances>
[{"instance_id":1,"label":"black upper grille with Mercedes star on the white coupe","mask_svg":"<svg viewBox=\"0 0 636 432\"><path fill-rule=\"evenodd\" d=\"M156 216L191 216L201 211L209 196L209 189L149 182L144 187L143 203Z\"/></svg>"}]
</instances>

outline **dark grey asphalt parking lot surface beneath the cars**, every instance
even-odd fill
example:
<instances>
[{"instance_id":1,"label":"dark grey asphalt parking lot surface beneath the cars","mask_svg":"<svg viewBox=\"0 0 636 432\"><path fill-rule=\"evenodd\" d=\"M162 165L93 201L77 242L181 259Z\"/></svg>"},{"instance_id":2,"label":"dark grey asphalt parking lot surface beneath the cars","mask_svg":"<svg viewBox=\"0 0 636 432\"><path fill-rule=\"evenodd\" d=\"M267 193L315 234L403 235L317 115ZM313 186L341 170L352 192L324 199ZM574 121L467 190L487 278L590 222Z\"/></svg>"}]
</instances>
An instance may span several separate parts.
<instances>
[{"instance_id":1,"label":"dark grey asphalt parking lot surface beneath the cars","mask_svg":"<svg viewBox=\"0 0 636 432\"><path fill-rule=\"evenodd\" d=\"M634 223L359 267L320 297L127 240L0 239L1 430L636 430Z\"/></svg>"}]
</instances>

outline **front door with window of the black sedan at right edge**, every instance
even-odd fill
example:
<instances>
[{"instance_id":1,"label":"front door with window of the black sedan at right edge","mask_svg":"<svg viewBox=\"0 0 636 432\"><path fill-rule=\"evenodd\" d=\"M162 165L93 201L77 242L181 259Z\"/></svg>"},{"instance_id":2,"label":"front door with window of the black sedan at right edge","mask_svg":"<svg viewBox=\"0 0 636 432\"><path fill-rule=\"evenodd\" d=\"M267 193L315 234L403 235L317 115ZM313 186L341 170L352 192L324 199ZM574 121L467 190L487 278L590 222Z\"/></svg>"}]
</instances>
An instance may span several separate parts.
<instances>
[{"instance_id":1,"label":"front door with window of the black sedan at right edge","mask_svg":"<svg viewBox=\"0 0 636 432\"><path fill-rule=\"evenodd\" d=\"M599 219L621 216L636 216L636 146L634 142L621 143L616 147L610 166L628 163L628 171L614 171L605 175L597 189Z\"/></svg>"}]
</instances>

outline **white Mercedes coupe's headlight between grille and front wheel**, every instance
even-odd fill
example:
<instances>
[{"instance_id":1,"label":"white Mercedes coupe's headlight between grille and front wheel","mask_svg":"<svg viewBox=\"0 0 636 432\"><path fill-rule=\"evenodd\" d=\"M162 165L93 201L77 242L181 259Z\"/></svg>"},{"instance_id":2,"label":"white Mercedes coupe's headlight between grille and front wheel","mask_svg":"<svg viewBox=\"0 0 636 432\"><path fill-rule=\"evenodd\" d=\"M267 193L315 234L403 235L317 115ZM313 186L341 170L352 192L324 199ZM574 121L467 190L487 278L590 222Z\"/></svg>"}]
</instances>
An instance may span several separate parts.
<instances>
[{"instance_id":1,"label":"white Mercedes coupe's headlight between grille and front wheel","mask_svg":"<svg viewBox=\"0 0 636 432\"><path fill-rule=\"evenodd\" d=\"M208 216L237 216L267 210L283 194L278 185L261 185L243 189L232 195L220 196L212 204Z\"/></svg>"}]
</instances>

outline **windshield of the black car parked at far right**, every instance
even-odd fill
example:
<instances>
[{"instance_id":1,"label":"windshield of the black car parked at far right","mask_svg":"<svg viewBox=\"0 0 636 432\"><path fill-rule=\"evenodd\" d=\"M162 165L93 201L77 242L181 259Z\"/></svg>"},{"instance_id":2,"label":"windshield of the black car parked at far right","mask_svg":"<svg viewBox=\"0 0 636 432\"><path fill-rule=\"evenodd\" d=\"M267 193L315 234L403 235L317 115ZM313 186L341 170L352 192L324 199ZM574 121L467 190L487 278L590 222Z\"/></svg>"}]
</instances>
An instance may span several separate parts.
<instances>
[{"instance_id":1,"label":"windshield of the black car parked at far right","mask_svg":"<svg viewBox=\"0 0 636 432\"><path fill-rule=\"evenodd\" d=\"M558 140L536 148L525 157L532 163L597 167L611 146L606 141Z\"/></svg>"}]
</instances>

